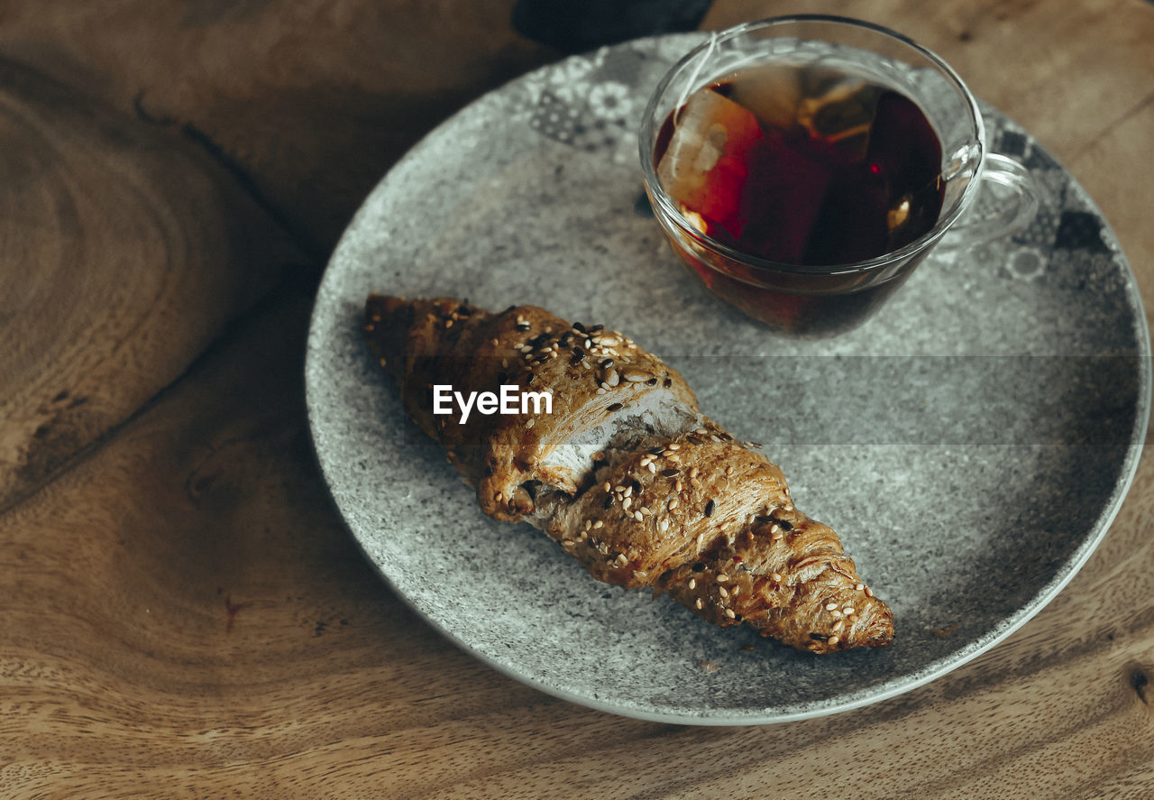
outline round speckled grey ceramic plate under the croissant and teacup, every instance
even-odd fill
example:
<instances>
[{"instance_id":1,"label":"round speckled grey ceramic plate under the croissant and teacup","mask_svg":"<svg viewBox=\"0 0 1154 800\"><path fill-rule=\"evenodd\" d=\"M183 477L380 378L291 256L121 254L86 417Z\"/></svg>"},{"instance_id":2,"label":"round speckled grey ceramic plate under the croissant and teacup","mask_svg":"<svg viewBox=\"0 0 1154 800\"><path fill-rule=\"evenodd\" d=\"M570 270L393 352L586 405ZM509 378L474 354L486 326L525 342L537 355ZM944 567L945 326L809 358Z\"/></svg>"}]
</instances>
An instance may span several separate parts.
<instances>
[{"instance_id":1,"label":"round speckled grey ceramic plate under the croissant and teacup","mask_svg":"<svg viewBox=\"0 0 1154 800\"><path fill-rule=\"evenodd\" d=\"M352 534L434 627L497 670L621 715L755 724L924 683L1046 605L1106 533L1137 466L1149 344L1133 277L1079 185L986 110L1044 190L1012 240L942 248L831 342L775 337L679 266L634 130L698 38L567 59L415 147L337 247L308 341L309 419ZM763 442L893 607L887 650L812 657L595 583L529 525L493 522L410 423L358 328L370 290L532 302L630 332L702 409Z\"/></svg>"}]
</instances>

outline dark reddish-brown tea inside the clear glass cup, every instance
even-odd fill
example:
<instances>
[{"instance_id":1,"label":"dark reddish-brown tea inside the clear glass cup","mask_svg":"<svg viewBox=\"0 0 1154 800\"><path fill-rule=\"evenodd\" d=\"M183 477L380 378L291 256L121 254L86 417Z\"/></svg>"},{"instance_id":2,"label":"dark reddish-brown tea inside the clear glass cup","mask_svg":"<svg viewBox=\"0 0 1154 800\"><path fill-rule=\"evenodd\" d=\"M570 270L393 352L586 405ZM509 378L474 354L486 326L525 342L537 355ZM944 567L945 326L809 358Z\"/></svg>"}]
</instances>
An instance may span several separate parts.
<instances>
[{"instance_id":1,"label":"dark reddish-brown tea inside the clear glass cup","mask_svg":"<svg viewBox=\"0 0 1154 800\"><path fill-rule=\"evenodd\" d=\"M863 317L902 277L835 267L932 230L945 189L942 145L917 104L824 65L759 65L702 87L666 118L653 164L700 233L757 259L831 268L770 277L715 252L709 264L682 253L747 313L819 334Z\"/></svg>"}]
</instances>

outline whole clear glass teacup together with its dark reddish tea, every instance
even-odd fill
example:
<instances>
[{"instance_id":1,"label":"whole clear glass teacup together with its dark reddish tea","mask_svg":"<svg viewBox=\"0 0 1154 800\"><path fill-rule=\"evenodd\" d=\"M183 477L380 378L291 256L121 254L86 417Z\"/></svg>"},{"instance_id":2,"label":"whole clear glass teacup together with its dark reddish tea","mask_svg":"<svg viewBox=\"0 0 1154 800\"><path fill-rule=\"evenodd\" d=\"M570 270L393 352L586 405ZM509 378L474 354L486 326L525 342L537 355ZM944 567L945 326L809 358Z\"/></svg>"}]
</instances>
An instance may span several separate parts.
<instances>
[{"instance_id":1,"label":"whole clear glass teacup together with its dark reddish tea","mask_svg":"<svg viewBox=\"0 0 1154 800\"><path fill-rule=\"evenodd\" d=\"M799 336L860 324L951 229L989 241L1037 208L1026 169L987 151L949 65L844 17L712 33L658 84L639 144L654 214L694 275ZM965 220L983 184L1002 209Z\"/></svg>"}]
</instances>

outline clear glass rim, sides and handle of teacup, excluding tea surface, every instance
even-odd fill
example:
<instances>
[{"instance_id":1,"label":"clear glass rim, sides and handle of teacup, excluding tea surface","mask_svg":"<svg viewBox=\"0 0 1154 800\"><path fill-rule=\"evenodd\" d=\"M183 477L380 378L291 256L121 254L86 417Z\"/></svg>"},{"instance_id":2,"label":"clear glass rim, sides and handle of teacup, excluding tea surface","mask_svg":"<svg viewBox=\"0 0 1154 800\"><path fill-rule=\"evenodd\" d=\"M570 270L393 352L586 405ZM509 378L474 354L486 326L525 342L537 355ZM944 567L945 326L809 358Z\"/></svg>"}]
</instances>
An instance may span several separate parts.
<instances>
[{"instance_id":1,"label":"clear glass rim, sides and handle of teacup, excluding tea surface","mask_svg":"<svg viewBox=\"0 0 1154 800\"><path fill-rule=\"evenodd\" d=\"M774 62L832 65L892 89L921 109L942 145L944 184L942 209L928 232L864 261L802 266L743 253L703 233L699 220L695 224L682 214L658 174L654 155L662 127L695 90ZM639 145L645 190L674 252L722 300L795 336L831 336L856 327L947 231L964 229L964 237L956 239L972 247L1021 230L1039 203L1026 169L988 152L977 103L947 63L900 33L845 17L774 17L712 33L658 84L643 117ZM980 188L983 214L967 215Z\"/></svg>"}]
</instances>

